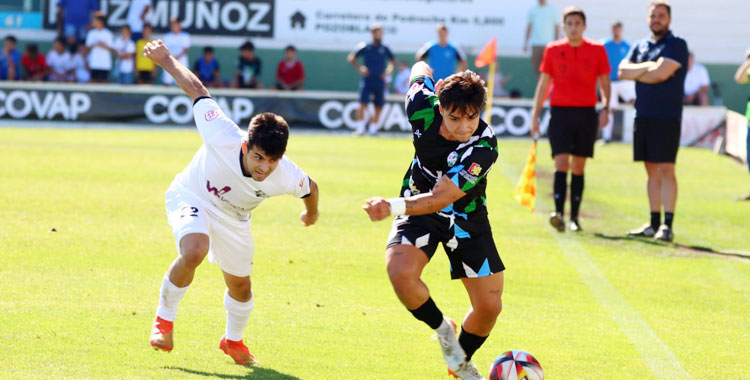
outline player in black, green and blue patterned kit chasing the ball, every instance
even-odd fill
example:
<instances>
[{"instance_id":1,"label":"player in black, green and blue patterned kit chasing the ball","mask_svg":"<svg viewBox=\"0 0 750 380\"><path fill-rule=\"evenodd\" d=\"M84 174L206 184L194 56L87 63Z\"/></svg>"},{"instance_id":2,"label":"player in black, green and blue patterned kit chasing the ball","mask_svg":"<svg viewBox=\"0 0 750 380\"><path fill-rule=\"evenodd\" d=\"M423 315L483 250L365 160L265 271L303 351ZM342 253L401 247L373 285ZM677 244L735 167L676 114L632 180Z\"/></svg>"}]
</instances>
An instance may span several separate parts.
<instances>
[{"instance_id":1,"label":"player in black, green and blue patterned kit chasing the ball","mask_svg":"<svg viewBox=\"0 0 750 380\"><path fill-rule=\"evenodd\" d=\"M487 173L498 157L492 128L479 119L487 89L471 71L437 84L432 70L417 62L406 95L415 154L399 198L370 198L372 221L396 216L385 252L393 289L404 306L434 329L448 369L461 379L483 379L471 361L502 309L505 266L487 217ZM471 301L461 335L443 316L420 279L442 244L451 278L461 279Z\"/></svg>"}]
</instances>

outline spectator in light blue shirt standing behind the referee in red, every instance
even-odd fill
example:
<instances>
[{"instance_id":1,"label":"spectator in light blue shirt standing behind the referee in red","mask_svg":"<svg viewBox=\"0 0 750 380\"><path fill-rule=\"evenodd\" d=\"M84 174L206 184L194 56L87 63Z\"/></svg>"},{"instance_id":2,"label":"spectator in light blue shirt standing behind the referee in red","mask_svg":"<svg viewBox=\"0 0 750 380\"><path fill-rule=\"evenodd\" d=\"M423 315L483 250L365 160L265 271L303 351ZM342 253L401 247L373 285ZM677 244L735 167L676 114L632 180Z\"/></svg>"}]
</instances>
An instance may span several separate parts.
<instances>
[{"instance_id":1,"label":"spectator in light blue shirt standing behind the referee in red","mask_svg":"<svg viewBox=\"0 0 750 380\"><path fill-rule=\"evenodd\" d=\"M531 65L537 78L539 77L539 65L542 63L544 47L560 36L559 22L560 15L557 13L557 9L547 5L547 0L539 0L539 5L529 9L529 23L526 26L523 51L528 51L529 43L531 43Z\"/></svg>"}]
</instances>

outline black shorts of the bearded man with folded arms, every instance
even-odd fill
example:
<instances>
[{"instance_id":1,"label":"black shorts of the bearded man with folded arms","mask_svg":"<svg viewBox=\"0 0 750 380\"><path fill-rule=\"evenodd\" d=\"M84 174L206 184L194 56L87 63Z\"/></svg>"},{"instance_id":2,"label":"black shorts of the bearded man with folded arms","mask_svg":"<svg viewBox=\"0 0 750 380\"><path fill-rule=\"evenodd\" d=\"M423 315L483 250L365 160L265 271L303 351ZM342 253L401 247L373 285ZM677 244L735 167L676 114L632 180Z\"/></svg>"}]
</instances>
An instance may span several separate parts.
<instances>
[{"instance_id":1,"label":"black shorts of the bearded man with folded arms","mask_svg":"<svg viewBox=\"0 0 750 380\"><path fill-rule=\"evenodd\" d=\"M633 161L677 161L681 126L680 119L636 118L633 128Z\"/></svg>"}]
</instances>

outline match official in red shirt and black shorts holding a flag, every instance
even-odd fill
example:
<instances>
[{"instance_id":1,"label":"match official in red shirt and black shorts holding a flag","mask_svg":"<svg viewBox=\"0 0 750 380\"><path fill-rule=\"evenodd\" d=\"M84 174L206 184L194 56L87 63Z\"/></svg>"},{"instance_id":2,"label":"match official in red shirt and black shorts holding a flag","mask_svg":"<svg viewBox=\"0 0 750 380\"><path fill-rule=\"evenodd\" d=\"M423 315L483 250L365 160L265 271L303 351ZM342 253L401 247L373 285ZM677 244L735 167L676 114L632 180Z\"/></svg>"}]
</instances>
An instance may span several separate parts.
<instances>
[{"instance_id":1,"label":"match official in red shirt and black shorts holding a flag","mask_svg":"<svg viewBox=\"0 0 750 380\"><path fill-rule=\"evenodd\" d=\"M555 212L550 224L559 232L565 231L563 216L570 177L570 230L581 231L578 211L583 198L583 172L586 158L594 157L594 142L598 128L609 120L609 62L604 46L583 37L586 15L583 10L568 7L563 12L563 29L567 38L550 42L544 49L540 68L542 75L534 94L531 135L539 134L539 115L545 94L550 86L551 118L547 136L555 160L553 182ZM596 87L601 88L604 109L597 115ZM572 157L571 157L572 156Z\"/></svg>"}]
</instances>

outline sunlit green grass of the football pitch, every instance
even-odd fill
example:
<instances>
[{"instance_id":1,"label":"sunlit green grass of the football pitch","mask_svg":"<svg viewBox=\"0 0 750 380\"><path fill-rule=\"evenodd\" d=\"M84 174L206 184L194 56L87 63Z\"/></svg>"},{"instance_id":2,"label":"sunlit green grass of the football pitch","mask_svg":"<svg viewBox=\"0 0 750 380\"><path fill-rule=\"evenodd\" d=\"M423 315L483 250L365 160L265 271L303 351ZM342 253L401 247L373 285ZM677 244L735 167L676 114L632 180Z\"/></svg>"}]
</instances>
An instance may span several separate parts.
<instances>
[{"instance_id":1,"label":"sunlit green grass of the football pitch","mask_svg":"<svg viewBox=\"0 0 750 380\"><path fill-rule=\"evenodd\" d=\"M529 144L499 145L488 207L508 269L503 313L475 355L482 372L522 349L548 379L656 379L662 365L637 341L658 339L665 348L656 350L671 351L693 379L750 378L750 262L721 254L750 251L750 203L733 200L748 190L745 169L682 149L678 245L656 244L623 238L648 217L645 171L629 146L597 148L586 232L558 235L544 216L547 144L534 215L511 196ZM217 349L224 285L208 264L180 304L175 350L151 350L161 279L176 255L164 192L199 146L192 131L0 129L0 378L447 378L431 331L385 275L390 223L360 209L397 192L413 153L406 139L292 137L289 156L320 184L321 217L301 227L292 197L253 213L246 341L263 367L235 366ZM468 297L442 251L423 278L460 319Z\"/></svg>"}]
</instances>

